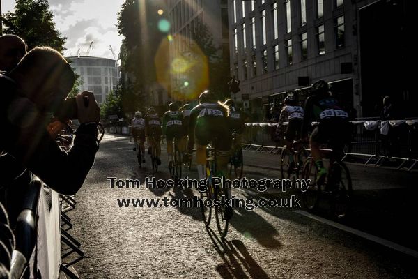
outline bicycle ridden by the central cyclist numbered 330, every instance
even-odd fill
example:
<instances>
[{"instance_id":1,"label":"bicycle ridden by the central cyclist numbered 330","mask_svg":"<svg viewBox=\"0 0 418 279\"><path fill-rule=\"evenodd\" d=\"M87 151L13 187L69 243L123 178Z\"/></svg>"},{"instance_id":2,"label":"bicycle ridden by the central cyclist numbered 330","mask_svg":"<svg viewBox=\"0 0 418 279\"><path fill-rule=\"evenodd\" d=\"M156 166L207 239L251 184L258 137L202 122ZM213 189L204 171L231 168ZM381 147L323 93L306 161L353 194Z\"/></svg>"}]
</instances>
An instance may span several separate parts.
<instances>
[{"instance_id":1,"label":"bicycle ridden by the central cyclist numbered 330","mask_svg":"<svg viewBox=\"0 0 418 279\"><path fill-rule=\"evenodd\" d=\"M213 141L212 141L213 142ZM222 196L230 197L230 189L222 188L222 186L214 187L212 185L212 177L217 176L217 158L216 148L208 146L206 148L206 177L208 179L208 190L206 193L201 193L201 199L218 199L222 200ZM202 206L203 222L206 227L210 225L210 218L212 216L212 207ZM215 206L215 218L217 223L217 229L222 238L226 237L228 233L229 220L232 217L232 208L224 206Z\"/></svg>"}]
</instances>

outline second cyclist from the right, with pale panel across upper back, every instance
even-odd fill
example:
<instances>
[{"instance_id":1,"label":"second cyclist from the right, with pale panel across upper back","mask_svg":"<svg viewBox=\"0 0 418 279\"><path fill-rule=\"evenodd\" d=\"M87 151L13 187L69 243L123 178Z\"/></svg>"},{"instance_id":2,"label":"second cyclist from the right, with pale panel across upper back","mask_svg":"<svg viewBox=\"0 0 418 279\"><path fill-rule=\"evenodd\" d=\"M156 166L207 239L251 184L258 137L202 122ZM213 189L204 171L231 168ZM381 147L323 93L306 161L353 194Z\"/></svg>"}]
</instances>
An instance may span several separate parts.
<instances>
[{"instance_id":1,"label":"second cyclist from the right, with pale panel across upper back","mask_svg":"<svg viewBox=\"0 0 418 279\"><path fill-rule=\"evenodd\" d=\"M296 98L294 96L287 96L284 99L284 107L280 112L279 123L277 123L277 134L284 135L285 147L289 154L289 165L293 164L293 154L290 151L293 146L293 141L300 138L303 116L304 110L297 105ZM286 131L282 133L284 130L284 122L288 122L288 125ZM291 171L291 167L289 167L289 171Z\"/></svg>"}]
</instances>

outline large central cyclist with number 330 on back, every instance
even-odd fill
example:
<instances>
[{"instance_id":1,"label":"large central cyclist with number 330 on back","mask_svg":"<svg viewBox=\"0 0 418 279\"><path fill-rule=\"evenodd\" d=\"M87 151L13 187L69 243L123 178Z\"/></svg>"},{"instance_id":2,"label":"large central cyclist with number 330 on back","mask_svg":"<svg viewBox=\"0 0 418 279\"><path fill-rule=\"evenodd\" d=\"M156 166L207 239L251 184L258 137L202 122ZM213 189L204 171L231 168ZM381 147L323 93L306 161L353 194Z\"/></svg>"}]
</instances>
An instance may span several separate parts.
<instances>
[{"instance_id":1,"label":"large central cyclist with number 330 on back","mask_svg":"<svg viewBox=\"0 0 418 279\"><path fill-rule=\"evenodd\" d=\"M215 93L203 91L199 105L190 113L189 153L192 153L196 138L196 163L199 179L206 179L206 146L212 139L216 147L217 167L224 176L227 173L231 150L231 129L227 122L228 108L217 102Z\"/></svg>"}]
</instances>

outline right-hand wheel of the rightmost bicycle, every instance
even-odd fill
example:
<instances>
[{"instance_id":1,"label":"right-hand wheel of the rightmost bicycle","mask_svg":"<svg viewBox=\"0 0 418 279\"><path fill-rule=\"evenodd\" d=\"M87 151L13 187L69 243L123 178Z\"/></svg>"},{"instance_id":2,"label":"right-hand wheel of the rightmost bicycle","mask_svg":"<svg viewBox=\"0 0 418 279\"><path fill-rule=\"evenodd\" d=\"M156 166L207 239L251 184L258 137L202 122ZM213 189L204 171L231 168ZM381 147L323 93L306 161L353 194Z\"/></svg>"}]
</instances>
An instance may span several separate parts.
<instances>
[{"instance_id":1,"label":"right-hand wheel of the rightmost bicycle","mask_svg":"<svg viewBox=\"0 0 418 279\"><path fill-rule=\"evenodd\" d=\"M350 200L353 197L350 172L344 163L334 162L328 183L332 183L334 189L332 195L332 211L334 217L337 219L344 218L348 213Z\"/></svg>"}]
</instances>

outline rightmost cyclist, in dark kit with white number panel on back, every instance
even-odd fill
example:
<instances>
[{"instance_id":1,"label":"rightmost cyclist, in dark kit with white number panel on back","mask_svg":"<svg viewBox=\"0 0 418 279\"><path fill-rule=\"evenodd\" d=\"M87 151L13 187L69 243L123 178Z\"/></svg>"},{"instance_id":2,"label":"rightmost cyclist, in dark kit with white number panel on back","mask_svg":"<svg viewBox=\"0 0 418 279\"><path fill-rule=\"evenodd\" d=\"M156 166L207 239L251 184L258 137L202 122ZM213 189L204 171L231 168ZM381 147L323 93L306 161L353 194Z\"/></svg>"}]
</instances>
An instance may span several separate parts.
<instances>
[{"instance_id":1,"label":"rightmost cyclist, in dark kit with white number panel on back","mask_svg":"<svg viewBox=\"0 0 418 279\"><path fill-rule=\"evenodd\" d=\"M318 175L316 183L324 183L327 175L323 160L320 155L320 144L332 143L333 148L342 151L343 146L350 140L350 123L348 113L332 96L327 82L319 80L311 86L311 95L307 98L304 107L304 119L302 123L302 138L307 139L307 133L311 127L311 121L318 121L309 138L312 158L314 158Z\"/></svg>"}]
</instances>

